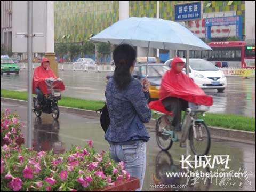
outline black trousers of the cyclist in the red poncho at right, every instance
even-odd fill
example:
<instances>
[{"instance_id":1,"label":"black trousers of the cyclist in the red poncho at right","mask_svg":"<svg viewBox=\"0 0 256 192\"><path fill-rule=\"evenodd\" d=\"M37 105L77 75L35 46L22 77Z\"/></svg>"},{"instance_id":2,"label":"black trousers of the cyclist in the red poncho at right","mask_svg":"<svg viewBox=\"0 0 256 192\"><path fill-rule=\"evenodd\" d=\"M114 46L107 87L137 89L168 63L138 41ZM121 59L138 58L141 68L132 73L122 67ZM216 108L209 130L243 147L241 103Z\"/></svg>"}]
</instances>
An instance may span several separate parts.
<instances>
[{"instance_id":1,"label":"black trousers of the cyclist in the red poncho at right","mask_svg":"<svg viewBox=\"0 0 256 192\"><path fill-rule=\"evenodd\" d=\"M172 111L173 113L172 125L175 127L175 131L180 131L181 110L186 111L188 101L175 97L167 97L162 100L162 103L167 111Z\"/></svg>"}]
</instances>

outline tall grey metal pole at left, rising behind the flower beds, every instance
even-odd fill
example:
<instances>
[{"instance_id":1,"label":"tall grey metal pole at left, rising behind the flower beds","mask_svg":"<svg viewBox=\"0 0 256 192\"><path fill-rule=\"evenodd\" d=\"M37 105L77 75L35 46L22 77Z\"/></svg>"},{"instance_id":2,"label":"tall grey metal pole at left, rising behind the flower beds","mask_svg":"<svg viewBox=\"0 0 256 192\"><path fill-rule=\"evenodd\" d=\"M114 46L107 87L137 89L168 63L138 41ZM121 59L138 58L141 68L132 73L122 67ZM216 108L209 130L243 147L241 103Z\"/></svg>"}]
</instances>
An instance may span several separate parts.
<instances>
[{"instance_id":1,"label":"tall grey metal pole at left, rising behind the flower beds","mask_svg":"<svg viewBox=\"0 0 256 192\"><path fill-rule=\"evenodd\" d=\"M28 133L26 146L32 147L32 14L33 1L28 1Z\"/></svg>"}]
</instances>

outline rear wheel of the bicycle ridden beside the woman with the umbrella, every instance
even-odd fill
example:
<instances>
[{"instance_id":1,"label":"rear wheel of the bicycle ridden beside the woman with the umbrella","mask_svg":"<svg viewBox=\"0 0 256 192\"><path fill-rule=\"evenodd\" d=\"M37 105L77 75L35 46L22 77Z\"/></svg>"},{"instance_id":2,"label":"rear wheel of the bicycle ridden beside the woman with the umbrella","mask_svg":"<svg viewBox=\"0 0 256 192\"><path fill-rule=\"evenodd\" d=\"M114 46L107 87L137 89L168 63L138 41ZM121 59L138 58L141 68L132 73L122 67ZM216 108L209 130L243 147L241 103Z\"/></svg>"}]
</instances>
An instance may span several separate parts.
<instances>
[{"instance_id":1,"label":"rear wheel of the bicycle ridden beside the woman with the umbrella","mask_svg":"<svg viewBox=\"0 0 256 192\"><path fill-rule=\"evenodd\" d=\"M163 130L166 129L166 124L162 121L163 116L157 119L156 122L156 141L157 145L164 151L172 147L172 139L170 135L164 135Z\"/></svg>"}]
</instances>

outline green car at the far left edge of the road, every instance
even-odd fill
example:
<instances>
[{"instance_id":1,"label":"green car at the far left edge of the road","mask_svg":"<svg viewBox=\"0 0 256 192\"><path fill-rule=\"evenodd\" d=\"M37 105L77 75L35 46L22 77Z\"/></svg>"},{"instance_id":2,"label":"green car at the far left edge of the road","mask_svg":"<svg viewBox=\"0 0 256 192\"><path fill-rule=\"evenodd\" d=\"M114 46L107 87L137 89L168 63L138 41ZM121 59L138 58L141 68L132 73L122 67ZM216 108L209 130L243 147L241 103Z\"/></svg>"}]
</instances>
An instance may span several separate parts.
<instances>
[{"instance_id":1,"label":"green car at the far left edge of the road","mask_svg":"<svg viewBox=\"0 0 256 192\"><path fill-rule=\"evenodd\" d=\"M7 55L1 55L1 75L4 73L7 73L9 75L10 73L19 74L20 68L17 63L14 63L11 58L9 58Z\"/></svg>"}]
</instances>

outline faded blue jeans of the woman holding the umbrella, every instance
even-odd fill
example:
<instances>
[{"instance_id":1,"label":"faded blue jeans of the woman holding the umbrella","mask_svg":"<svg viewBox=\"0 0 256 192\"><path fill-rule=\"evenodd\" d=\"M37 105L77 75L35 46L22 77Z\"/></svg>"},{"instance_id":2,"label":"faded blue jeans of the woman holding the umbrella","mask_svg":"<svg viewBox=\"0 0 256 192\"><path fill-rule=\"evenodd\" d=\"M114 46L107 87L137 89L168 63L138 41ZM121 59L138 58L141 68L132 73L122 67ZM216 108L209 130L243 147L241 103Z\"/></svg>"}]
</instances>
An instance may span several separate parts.
<instances>
[{"instance_id":1,"label":"faded blue jeans of the woman holding the umbrella","mask_svg":"<svg viewBox=\"0 0 256 192\"><path fill-rule=\"evenodd\" d=\"M124 162L125 170L132 177L140 179L140 189L143 186L143 181L146 171L146 142L139 141L132 145L110 145L111 158L115 162Z\"/></svg>"}]
</instances>

